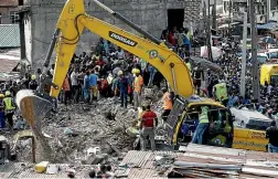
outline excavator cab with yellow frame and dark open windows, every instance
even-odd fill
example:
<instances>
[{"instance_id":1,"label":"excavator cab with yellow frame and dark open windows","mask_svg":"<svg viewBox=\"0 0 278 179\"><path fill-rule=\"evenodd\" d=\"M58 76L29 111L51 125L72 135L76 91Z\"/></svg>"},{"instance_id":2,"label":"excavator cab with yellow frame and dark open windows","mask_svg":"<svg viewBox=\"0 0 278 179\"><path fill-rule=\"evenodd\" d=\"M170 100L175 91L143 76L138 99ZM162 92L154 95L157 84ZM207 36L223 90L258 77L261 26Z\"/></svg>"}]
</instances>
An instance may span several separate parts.
<instances>
[{"instance_id":1,"label":"excavator cab with yellow frame and dark open windows","mask_svg":"<svg viewBox=\"0 0 278 179\"><path fill-rule=\"evenodd\" d=\"M203 137L203 145L231 148L233 145L233 117L231 112L217 102L199 96L175 99L165 122L168 144L179 147L192 141L202 106L209 107L210 120L209 128Z\"/></svg>"}]
</instances>

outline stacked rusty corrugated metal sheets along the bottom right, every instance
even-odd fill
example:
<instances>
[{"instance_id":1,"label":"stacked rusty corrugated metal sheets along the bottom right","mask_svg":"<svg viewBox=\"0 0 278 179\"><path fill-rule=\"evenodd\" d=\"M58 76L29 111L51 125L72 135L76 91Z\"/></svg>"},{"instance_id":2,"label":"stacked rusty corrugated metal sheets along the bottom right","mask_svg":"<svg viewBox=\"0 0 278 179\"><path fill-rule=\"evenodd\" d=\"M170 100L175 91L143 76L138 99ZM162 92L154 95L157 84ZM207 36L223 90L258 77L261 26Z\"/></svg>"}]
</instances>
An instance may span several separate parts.
<instances>
[{"instance_id":1,"label":"stacked rusty corrugated metal sheets along the bottom right","mask_svg":"<svg viewBox=\"0 0 278 179\"><path fill-rule=\"evenodd\" d=\"M170 171L180 170L185 177L191 176L193 178L199 178L201 176L264 178L268 175L269 177L278 178L278 156L275 156L275 154L203 145L189 145L185 151L186 152L129 151L115 173L116 176L125 178L167 178ZM174 158L174 161L178 161L175 165L183 164L184 166L168 164L163 170L165 164L156 165L156 156ZM214 166L214 168L210 168L209 166ZM215 166L217 167L215 168ZM231 169L231 166L236 166L240 169Z\"/></svg>"}]
</instances>

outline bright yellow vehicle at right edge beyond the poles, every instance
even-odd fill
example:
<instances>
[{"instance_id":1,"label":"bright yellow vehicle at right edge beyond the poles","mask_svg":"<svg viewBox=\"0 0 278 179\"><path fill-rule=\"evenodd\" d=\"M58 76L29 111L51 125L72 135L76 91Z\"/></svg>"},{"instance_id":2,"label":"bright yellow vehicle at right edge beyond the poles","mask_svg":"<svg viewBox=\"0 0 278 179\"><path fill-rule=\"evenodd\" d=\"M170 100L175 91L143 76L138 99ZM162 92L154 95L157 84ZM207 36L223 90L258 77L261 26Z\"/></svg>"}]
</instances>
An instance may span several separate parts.
<instances>
[{"instance_id":1,"label":"bright yellow vehicle at right edge beyond the poles","mask_svg":"<svg viewBox=\"0 0 278 179\"><path fill-rule=\"evenodd\" d=\"M260 66L260 84L265 85L265 82L278 83L278 64L264 64Z\"/></svg>"}]
</instances>

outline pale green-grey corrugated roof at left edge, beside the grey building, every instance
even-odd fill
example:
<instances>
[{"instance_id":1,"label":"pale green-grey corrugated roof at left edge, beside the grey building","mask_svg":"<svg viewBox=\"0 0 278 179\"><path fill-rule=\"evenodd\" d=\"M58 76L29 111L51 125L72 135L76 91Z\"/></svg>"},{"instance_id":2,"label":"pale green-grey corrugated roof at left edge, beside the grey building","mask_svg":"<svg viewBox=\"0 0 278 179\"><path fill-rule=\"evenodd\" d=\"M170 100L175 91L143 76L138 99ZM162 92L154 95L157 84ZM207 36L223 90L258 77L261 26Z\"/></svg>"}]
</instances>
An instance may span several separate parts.
<instances>
[{"instance_id":1,"label":"pale green-grey corrugated roof at left edge, beside the grey building","mask_svg":"<svg viewBox=\"0 0 278 179\"><path fill-rule=\"evenodd\" d=\"M0 25L0 48L19 48L20 28L19 24Z\"/></svg>"}]
</instances>

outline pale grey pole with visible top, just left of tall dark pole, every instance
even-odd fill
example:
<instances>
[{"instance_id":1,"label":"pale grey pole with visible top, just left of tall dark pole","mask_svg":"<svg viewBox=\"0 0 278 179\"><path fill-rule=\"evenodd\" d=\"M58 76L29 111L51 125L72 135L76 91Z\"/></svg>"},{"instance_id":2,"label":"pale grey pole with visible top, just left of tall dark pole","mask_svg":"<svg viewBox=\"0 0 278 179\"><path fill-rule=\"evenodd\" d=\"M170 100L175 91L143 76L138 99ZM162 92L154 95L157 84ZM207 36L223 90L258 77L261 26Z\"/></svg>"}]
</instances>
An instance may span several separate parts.
<instances>
[{"instance_id":1,"label":"pale grey pole with visible top, just left of tall dark pole","mask_svg":"<svg viewBox=\"0 0 278 179\"><path fill-rule=\"evenodd\" d=\"M242 57L242 75L240 75L240 95L245 96L245 74L246 74L246 45L247 45L247 12L244 14L244 31L243 31L243 57Z\"/></svg>"}]
</instances>

